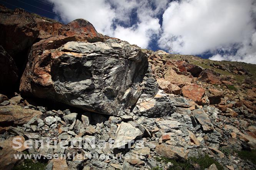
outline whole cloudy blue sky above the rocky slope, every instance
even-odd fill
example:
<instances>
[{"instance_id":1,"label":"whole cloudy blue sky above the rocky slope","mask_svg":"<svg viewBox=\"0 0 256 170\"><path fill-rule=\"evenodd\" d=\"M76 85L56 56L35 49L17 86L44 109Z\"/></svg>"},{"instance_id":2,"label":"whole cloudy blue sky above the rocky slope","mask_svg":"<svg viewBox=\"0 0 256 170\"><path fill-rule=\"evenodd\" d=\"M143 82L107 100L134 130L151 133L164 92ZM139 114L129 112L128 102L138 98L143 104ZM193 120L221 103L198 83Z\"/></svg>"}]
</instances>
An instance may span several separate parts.
<instances>
[{"instance_id":1,"label":"whole cloudy blue sky above the rocky slope","mask_svg":"<svg viewBox=\"0 0 256 170\"><path fill-rule=\"evenodd\" d=\"M256 64L253 0L0 0L8 8L68 23L90 21L98 32L142 48Z\"/></svg>"}]
</instances>

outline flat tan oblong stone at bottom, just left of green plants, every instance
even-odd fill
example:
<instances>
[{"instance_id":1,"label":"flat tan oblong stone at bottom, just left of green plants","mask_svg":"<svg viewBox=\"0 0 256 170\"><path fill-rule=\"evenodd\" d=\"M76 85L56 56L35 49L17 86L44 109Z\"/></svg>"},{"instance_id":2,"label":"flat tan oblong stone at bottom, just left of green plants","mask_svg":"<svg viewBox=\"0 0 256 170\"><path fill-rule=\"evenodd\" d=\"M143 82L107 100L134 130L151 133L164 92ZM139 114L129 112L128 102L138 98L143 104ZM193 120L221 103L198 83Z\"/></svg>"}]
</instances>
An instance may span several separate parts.
<instances>
[{"instance_id":1,"label":"flat tan oblong stone at bottom, just left of green plants","mask_svg":"<svg viewBox=\"0 0 256 170\"><path fill-rule=\"evenodd\" d=\"M155 151L158 155L168 157L170 159L180 160L188 158L188 151L182 147L160 144L156 146Z\"/></svg>"}]
</instances>

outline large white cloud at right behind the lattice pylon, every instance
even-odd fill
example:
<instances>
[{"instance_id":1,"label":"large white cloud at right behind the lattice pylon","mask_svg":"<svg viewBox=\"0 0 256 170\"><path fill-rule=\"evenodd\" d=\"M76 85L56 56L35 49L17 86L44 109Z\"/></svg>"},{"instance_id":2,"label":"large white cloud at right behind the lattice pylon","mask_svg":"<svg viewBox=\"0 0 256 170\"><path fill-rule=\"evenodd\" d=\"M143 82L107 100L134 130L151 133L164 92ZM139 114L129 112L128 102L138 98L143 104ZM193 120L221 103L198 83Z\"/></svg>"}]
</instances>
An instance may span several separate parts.
<instances>
[{"instance_id":1,"label":"large white cloud at right behind the lattice pylon","mask_svg":"<svg viewBox=\"0 0 256 170\"><path fill-rule=\"evenodd\" d=\"M159 46L168 49L170 42L165 42L174 34L175 52L195 55L210 52L216 54L210 58L214 60L255 63L253 3L253 0L170 2L163 14Z\"/></svg>"}]
</instances>

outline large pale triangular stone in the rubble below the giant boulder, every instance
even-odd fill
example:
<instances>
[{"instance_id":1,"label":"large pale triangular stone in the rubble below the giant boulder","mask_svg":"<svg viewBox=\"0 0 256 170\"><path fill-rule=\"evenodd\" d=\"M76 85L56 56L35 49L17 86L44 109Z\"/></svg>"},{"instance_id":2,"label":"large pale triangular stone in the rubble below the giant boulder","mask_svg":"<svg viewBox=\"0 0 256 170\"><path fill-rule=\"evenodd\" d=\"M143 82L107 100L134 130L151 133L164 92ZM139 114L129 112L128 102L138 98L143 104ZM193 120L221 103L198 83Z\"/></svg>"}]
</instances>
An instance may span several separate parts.
<instances>
[{"instance_id":1,"label":"large pale triangular stone in the rubble below the giant boulder","mask_svg":"<svg viewBox=\"0 0 256 170\"><path fill-rule=\"evenodd\" d=\"M142 134L139 129L133 127L130 123L121 122L116 130L113 148L122 147L136 139L136 137L142 136Z\"/></svg>"}]
</instances>

